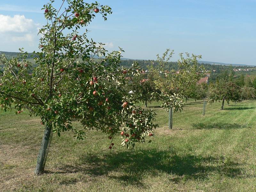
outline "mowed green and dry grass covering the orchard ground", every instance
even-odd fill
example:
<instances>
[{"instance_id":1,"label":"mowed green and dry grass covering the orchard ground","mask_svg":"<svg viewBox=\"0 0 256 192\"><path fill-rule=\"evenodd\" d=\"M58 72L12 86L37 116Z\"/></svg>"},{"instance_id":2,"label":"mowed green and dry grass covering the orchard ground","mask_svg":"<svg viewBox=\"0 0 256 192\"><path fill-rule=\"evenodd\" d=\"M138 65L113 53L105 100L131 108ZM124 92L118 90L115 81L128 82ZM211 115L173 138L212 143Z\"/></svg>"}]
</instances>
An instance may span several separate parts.
<instances>
[{"instance_id":1,"label":"mowed green and dry grass covering the orchard ground","mask_svg":"<svg viewBox=\"0 0 256 192\"><path fill-rule=\"evenodd\" d=\"M53 136L45 174L34 175L44 127L27 112L0 114L0 191L256 191L256 101L168 114L158 103L155 138L134 149L101 132L84 141ZM75 126L80 126L74 122ZM149 139L148 139L149 140Z\"/></svg>"}]
</instances>

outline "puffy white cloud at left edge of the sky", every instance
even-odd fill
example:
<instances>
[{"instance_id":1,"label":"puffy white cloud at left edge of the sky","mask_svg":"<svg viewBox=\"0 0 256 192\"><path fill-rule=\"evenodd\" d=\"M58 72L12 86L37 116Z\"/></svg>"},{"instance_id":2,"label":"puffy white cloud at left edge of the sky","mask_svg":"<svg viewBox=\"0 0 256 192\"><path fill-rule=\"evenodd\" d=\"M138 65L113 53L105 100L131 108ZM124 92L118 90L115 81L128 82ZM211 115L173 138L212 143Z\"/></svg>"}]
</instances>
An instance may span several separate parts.
<instances>
[{"instance_id":1,"label":"puffy white cloud at left edge of the sky","mask_svg":"<svg viewBox=\"0 0 256 192\"><path fill-rule=\"evenodd\" d=\"M39 24L24 15L0 14L0 38L10 39L12 42L33 42L38 33Z\"/></svg>"}]
</instances>

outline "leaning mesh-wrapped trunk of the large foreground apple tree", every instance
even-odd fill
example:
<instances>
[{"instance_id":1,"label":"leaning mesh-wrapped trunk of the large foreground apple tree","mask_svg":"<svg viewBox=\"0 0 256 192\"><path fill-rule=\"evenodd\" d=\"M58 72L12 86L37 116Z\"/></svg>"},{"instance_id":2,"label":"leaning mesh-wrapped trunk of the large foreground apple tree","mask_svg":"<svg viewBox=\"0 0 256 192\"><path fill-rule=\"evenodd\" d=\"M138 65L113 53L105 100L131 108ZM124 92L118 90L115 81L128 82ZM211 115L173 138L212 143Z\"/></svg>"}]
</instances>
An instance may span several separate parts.
<instances>
[{"instance_id":1,"label":"leaning mesh-wrapped trunk of the large foreground apple tree","mask_svg":"<svg viewBox=\"0 0 256 192\"><path fill-rule=\"evenodd\" d=\"M35 174L36 175L41 175L44 173L44 166L46 162L46 158L48 155L48 151L51 145L52 141L52 127L47 127L45 128L44 131L44 137L41 143L41 148L39 150L39 154L37 157L37 162L36 162L36 169L35 169Z\"/></svg>"}]
</instances>

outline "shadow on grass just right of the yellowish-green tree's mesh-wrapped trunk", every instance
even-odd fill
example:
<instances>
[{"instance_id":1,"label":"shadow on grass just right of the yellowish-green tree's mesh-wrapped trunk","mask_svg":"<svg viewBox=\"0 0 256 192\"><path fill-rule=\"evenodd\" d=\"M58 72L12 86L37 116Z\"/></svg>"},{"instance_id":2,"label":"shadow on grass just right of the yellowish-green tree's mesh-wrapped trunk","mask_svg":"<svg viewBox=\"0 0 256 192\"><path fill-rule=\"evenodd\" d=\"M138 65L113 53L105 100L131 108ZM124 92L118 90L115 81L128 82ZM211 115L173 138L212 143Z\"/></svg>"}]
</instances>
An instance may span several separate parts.
<instances>
[{"instance_id":1,"label":"shadow on grass just right of the yellowish-green tree's mesh-wrapped trunk","mask_svg":"<svg viewBox=\"0 0 256 192\"><path fill-rule=\"evenodd\" d=\"M241 129L246 127L245 125L236 123L197 123L193 124L193 129Z\"/></svg>"}]
</instances>

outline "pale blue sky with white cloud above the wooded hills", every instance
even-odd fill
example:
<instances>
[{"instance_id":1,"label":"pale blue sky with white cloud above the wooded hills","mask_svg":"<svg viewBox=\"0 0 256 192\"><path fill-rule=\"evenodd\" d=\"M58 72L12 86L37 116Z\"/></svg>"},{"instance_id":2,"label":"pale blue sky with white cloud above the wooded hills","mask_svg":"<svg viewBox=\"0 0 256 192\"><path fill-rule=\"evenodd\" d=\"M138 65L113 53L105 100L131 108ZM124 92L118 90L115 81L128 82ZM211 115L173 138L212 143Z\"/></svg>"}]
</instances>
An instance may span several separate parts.
<instances>
[{"instance_id":1,"label":"pale blue sky with white cloud above the wooded hills","mask_svg":"<svg viewBox=\"0 0 256 192\"><path fill-rule=\"evenodd\" d=\"M47 0L2 0L0 50L17 52L38 48L37 30ZM88 1L87 1L88 2ZM91 2L91 1L90 1ZM99 16L88 27L89 37L122 47L125 58L156 59L167 48L201 54L202 60L256 65L256 0L108 0L113 14ZM56 0L58 7L61 0Z\"/></svg>"}]
</instances>

